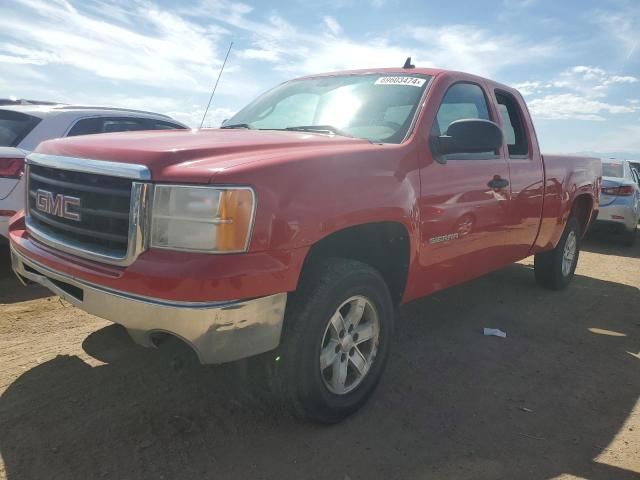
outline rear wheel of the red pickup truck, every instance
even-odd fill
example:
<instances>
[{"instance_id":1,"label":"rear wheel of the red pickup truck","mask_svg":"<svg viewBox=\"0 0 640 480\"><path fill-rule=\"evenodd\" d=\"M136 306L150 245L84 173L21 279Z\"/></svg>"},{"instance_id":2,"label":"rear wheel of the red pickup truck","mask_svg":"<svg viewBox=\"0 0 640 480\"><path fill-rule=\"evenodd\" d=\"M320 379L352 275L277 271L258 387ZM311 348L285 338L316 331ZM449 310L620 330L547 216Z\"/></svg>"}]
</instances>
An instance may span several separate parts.
<instances>
[{"instance_id":1,"label":"rear wheel of the red pickup truck","mask_svg":"<svg viewBox=\"0 0 640 480\"><path fill-rule=\"evenodd\" d=\"M549 290L562 290L569 285L578 265L580 242L580 223L575 217L569 217L556 247L548 252L538 253L534 258L536 281L540 286ZM565 249L573 250L570 264L564 262L565 253L570 253L565 252Z\"/></svg>"}]
</instances>

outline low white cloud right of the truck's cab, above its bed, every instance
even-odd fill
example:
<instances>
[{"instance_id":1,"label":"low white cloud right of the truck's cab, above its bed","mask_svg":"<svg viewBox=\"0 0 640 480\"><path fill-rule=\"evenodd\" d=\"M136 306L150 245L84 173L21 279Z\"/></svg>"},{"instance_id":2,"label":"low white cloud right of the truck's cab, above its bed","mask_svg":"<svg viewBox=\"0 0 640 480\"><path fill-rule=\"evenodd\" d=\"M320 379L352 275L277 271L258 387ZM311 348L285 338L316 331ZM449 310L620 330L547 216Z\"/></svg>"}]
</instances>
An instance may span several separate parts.
<instances>
[{"instance_id":1,"label":"low white cloud right of the truck's cab, above its bed","mask_svg":"<svg viewBox=\"0 0 640 480\"><path fill-rule=\"evenodd\" d=\"M531 113L538 119L605 120L604 113L633 113L635 105L615 105L573 93L552 94L529 102Z\"/></svg>"}]
</instances>

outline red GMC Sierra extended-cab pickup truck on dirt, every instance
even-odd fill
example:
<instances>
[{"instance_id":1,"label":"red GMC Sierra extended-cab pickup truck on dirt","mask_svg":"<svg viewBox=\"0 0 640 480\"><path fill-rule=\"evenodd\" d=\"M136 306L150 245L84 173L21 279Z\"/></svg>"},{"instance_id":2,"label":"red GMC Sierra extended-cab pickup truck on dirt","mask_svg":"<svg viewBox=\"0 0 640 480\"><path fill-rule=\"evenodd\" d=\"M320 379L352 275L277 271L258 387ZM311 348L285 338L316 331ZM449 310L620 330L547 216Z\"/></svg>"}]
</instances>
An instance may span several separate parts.
<instances>
[{"instance_id":1,"label":"red GMC Sierra extended-cab pickup truck on dirt","mask_svg":"<svg viewBox=\"0 0 640 480\"><path fill-rule=\"evenodd\" d=\"M10 227L19 278L202 363L260 358L307 418L373 392L399 305L535 255L573 277L598 159L542 156L520 94L372 69L295 79L220 129L52 140Z\"/></svg>"}]
</instances>

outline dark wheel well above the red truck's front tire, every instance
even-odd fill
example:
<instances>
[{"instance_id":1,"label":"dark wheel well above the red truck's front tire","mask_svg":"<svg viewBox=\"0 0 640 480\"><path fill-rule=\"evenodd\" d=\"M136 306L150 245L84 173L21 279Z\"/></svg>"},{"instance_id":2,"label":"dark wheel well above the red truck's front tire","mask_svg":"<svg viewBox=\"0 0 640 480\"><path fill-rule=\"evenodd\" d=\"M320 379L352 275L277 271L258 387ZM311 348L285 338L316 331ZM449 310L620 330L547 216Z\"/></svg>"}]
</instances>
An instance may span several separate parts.
<instances>
[{"instance_id":1,"label":"dark wheel well above the red truck's front tire","mask_svg":"<svg viewBox=\"0 0 640 480\"><path fill-rule=\"evenodd\" d=\"M384 278L395 305L400 303L409 271L409 234L401 223L367 223L345 228L311 247L302 269L319 259L341 257L375 268Z\"/></svg>"}]
</instances>

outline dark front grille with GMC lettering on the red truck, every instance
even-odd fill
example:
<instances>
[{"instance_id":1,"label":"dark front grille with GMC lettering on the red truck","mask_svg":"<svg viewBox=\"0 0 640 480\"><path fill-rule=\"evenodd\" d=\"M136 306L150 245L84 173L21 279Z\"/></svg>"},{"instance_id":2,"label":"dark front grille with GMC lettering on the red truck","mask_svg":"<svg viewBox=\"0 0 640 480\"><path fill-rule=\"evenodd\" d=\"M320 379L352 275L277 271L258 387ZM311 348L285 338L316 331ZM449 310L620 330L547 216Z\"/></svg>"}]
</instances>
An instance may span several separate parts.
<instances>
[{"instance_id":1,"label":"dark front grille with GMC lettering on the red truck","mask_svg":"<svg viewBox=\"0 0 640 480\"><path fill-rule=\"evenodd\" d=\"M132 184L127 178L29 165L30 224L56 242L114 258L125 257ZM80 199L79 206L69 206L80 219L38 209L38 190L50 192L50 198L64 195Z\"/></svg>"}]
</instances>

